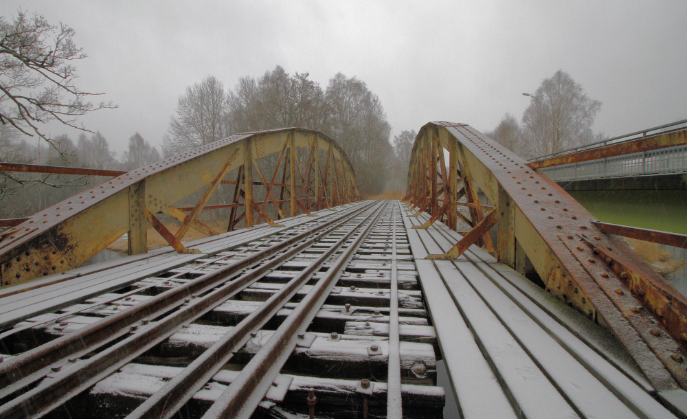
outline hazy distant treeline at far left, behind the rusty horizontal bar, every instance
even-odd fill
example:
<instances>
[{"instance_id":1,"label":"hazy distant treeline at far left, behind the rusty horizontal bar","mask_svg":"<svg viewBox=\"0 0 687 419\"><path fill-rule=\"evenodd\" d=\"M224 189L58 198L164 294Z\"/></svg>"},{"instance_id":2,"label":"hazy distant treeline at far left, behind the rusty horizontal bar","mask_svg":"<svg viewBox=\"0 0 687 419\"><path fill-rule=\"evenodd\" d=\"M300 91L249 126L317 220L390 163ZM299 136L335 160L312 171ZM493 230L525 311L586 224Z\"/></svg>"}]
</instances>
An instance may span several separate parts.
<instances>
[{"instance_id":1,"label":"hazy distant treeline at far left, behind the rusty horizontal bar","mask_svg":"<svg viewBox=\"0 0 687 419\"><path fill-rule=\"evenodd\" d=\"M128 149L117 159L107 139L99 132L82 133L74 141L69 135L53 139L52 145L27 137L8 125L0 128L0 161L44 166L69 166L107 170L132 170L161 160L158 150L135 133ZM92 185L103 177L70 174L2 172L0 176L0 217L30 216Z\"/></svg>"}]
</instances>

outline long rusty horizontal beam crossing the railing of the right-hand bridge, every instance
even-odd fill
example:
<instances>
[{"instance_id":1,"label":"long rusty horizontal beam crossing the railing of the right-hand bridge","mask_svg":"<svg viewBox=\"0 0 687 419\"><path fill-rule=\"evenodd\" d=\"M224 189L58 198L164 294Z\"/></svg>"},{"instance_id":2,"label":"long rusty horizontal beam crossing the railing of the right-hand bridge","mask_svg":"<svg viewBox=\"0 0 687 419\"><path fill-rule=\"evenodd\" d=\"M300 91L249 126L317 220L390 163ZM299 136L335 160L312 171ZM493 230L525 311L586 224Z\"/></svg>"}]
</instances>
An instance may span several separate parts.
<instances>
[{"instance_id":1,"label":"long rusty horizontal beam crossing the railing of the right-hand bridge","mask_svg":"<svg viewBox=\"0 0 687 419\"><path fill-rule=\"evenodd\" d=\"M584 150L559 157L552 157L550 159L533 161L532 163L528 163L528 166L533 169L541 169L567 163L579 163L581 161L627 155L633 152L651 151L666 147L682 146L683 144L687 144L687 130L657 135L655 137L641 138L635 141L627 141L620 144L610 144L609 146L594 148L592 150Z\"/></svg>"}]
</instances>

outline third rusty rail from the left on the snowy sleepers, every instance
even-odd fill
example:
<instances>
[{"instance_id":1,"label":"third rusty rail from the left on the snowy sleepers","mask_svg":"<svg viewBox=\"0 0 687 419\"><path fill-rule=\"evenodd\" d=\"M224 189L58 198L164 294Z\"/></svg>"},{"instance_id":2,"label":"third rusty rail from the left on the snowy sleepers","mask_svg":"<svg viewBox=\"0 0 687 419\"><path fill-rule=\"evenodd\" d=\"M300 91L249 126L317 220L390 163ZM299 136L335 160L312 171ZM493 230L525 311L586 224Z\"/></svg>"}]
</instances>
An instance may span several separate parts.
<instances>
[{"instance_id":1,"label":"third rusty rail from the left on the snowy sleepers","mask_svg":"<svg viewBox=\"0 0 687 419\"><path fill-rule=\"evenodd\" d=\"M365 219L366 220L366 219ZM223 365L229 362L241 347L249 341L251 332L257 332L269 321L291 297L310 280L314 273L324 265L335 251L339 250L348 241L355 231L365 223L361 220L321 256L313 260L303 271L287 282L280 290L273 294L260 307L254 310L245 319L201 356L196 358L188 367L185 367L177 376L166 383L158 392L150 396L142 405L139 405L126 419L141 418L171 418L185 403L198 392ZM400 371L400 370L399 370Z\"/></svg>"}]
</instances>

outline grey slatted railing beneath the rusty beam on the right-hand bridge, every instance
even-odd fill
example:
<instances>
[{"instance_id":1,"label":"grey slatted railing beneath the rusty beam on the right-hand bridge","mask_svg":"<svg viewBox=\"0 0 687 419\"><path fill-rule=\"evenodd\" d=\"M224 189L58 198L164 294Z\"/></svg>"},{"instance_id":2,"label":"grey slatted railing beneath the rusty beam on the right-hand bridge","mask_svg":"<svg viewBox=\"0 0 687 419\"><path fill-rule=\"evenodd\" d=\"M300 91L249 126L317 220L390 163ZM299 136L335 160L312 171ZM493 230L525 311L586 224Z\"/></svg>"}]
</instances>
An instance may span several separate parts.
<instances>
[{"instance_id":1,"label":"grey slatted railing beneath the rusty beam on the right-hand bridge","mask_svg":"<svg viewBox=\"0 0 687 419\"><path fill-rule=\"evenodd\" d=\"M687 172L687 146L561 164L542 168L541 172L554 181L682 173Z\"/></svg>"}]
</instances>

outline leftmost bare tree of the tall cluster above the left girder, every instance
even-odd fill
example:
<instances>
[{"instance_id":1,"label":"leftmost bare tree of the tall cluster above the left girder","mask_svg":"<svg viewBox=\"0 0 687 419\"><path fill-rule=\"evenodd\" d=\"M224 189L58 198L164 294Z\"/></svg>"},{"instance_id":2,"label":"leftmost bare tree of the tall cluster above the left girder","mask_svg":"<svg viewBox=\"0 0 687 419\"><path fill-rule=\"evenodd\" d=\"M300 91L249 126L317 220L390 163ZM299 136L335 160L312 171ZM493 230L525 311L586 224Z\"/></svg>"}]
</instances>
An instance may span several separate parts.
<instances>
[{"instance_id":1,"label":"leftmost bare tree of the tall cluster above the left girder","mask_svg":"<svg viewBox=\"0 0 687 419\"><path fill-rule=\"evenodd\" d=\"M179 96L177 115L162 140L166 157L204 146L229 135L227 130L227 96L224 86L214 76L189 86Z\"/></svg>"}]
</instances>

